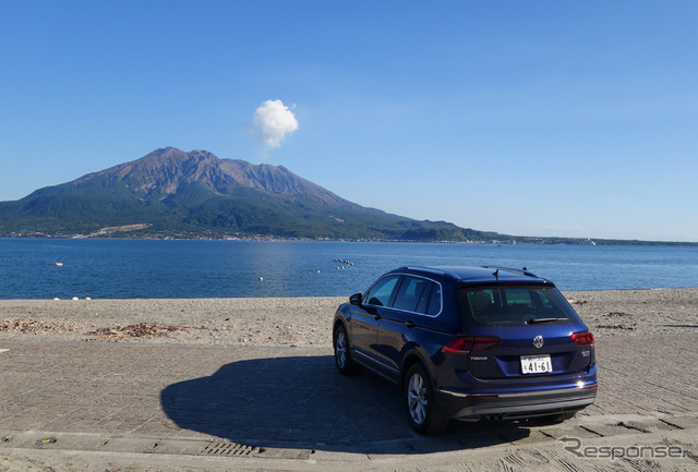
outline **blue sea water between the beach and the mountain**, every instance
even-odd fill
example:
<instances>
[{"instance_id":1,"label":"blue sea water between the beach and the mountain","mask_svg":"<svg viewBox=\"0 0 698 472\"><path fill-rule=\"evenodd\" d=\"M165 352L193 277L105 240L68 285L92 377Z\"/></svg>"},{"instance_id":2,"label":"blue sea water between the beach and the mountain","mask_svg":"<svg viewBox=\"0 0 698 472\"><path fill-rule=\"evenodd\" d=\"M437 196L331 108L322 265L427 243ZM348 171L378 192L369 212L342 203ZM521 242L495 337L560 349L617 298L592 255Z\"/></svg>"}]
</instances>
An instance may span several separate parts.
<instances>
[{"instance_id":1,"label":"blue sea water between the beach and the mountain","mask_svg":"<svg viewBox=\"0 0 698 472\"><path fill-rule=\"evenodd\" d=\"M522 268L563 291L698 287L698 247L0 239L0 299L345 296L404 265Z\"/></svg>"}]
</instances>

